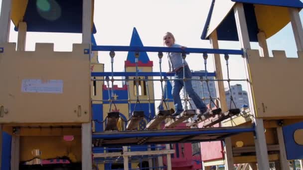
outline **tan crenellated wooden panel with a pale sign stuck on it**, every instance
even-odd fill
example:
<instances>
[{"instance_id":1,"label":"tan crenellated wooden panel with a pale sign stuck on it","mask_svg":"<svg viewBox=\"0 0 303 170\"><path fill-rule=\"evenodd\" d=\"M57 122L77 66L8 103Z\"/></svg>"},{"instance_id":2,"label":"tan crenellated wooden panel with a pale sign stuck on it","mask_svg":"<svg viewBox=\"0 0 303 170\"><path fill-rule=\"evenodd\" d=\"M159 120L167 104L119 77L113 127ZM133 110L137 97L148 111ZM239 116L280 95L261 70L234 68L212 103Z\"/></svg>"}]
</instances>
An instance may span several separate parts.
<instances>
[{"instance_id":1,"label":"tan crenellated wooden panel with a pale sign stuck on it","mask_svg":"<svg viewBox=\"0 0 303 170\"><path fill-rule=\"evenodd\" d=\"M45 43L25 52L15 51L14 43L0 47L0 106L5 112L0 123L90 121L88 44L74 44L72 52L54 52L53 44ZM41 82L32 88L35 80Z\"/></svg>"}]
</instances>

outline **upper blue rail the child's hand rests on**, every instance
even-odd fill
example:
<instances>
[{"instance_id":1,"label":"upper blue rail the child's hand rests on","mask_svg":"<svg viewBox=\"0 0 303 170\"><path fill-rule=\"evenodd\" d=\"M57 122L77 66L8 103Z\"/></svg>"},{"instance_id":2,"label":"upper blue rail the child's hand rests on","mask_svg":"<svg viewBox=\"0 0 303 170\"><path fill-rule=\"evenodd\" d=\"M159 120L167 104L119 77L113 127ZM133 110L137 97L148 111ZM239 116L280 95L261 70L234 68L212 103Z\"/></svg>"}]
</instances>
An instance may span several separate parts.
<instances>
[{"instance_id":1,"label":"upper blue rail the child's hand rests on","mask_svg":"<svg viewBox=\"0 0 303 170\"><path fill-rule=\"evenodd\" d=\"M211 48L138 47L138 46L92 46L92 51L132 51L132 52L177 52L243 55L243 50Z\"/></svg>"}]
</instances>

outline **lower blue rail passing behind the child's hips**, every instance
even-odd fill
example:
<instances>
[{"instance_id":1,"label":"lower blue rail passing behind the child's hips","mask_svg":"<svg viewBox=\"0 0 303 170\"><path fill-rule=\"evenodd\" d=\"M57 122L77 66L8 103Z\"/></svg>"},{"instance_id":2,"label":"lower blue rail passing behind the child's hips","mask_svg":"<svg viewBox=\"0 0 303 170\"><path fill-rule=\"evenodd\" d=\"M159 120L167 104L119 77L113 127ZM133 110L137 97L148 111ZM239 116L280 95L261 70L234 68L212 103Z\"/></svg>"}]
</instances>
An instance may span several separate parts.
<instances>
[{"instance_id":1,"label":"lower blue rail passing behind the child's hips","mask_svg":"<svg viewBox=\"0 0 303 170\"><path fill-rule=\"evenodd\" d=\"M136 76L136 72L114 72L114 76ZM162 72L162 77L174 76L174 73L165 73ZM192 76L205 77L205 73L203 72L192 72ZM106 77L112 76L112 72L93 72L91 73L92 77ZM138 72L138 76L160 76L160 72ZM208 77L215 77L216 73L207 73Z\"/></svg>"}]
</instances>

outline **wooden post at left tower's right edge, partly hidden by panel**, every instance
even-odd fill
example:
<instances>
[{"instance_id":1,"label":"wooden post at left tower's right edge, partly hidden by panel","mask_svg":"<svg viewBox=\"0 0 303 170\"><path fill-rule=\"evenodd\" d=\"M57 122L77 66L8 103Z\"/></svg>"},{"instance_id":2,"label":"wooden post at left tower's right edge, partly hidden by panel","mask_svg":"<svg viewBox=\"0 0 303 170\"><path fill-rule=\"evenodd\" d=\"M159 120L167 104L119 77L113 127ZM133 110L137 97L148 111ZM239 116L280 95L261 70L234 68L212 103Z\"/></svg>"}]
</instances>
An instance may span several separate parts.
<instances>
[{"instance_id":1,"label":"wooden post at left tower's right edge, partly hidden by panel","mask_svg":"<svg viewBox=\"0 0 303 170\"><path fill-rule=\"evenodd\" d=\"M82 10L83 11L82 12L82 43L89 44L89 49L91 49L92 0L83 0L82 7L83 7L83 10ZM89 59L90 59L90 57L89 57ZM91 123L91 121L89 123L82 124L81 133L82 133L82 170L91 170L92 169L92 123Z\"/></svg>"}]
</instances>

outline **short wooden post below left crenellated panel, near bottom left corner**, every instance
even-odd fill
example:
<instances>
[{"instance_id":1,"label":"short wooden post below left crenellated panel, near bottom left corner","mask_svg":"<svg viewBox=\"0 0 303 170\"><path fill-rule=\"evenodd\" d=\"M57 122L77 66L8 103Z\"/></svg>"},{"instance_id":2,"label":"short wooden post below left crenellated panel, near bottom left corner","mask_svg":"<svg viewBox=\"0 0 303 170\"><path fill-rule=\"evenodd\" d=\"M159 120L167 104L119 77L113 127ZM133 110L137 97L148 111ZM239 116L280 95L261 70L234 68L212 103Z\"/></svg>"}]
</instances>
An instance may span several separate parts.
<instances>
[{"instance_id":1,"label":"short wooden post below left crenellated panel, near bottom left corner","mask_svg":"<svg viewBox=\"0 0 303 170\"><path fill-rule=\"evenodd\" d=\"M20 160L20 136L15 134L11 137L11 151L10 151L10 168L11 170L19 170Z\"/></svg>"}]
</instances>

